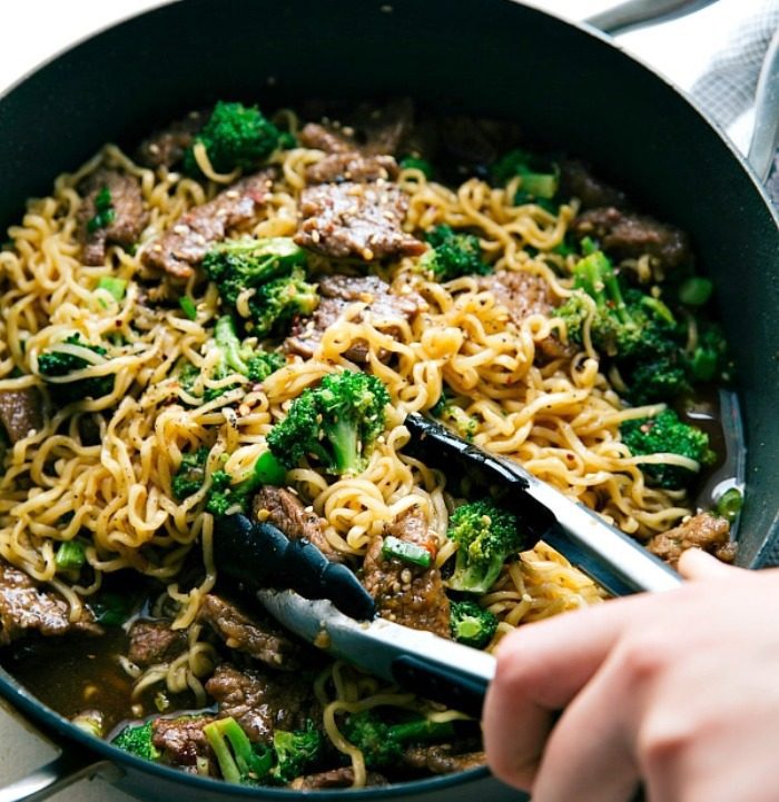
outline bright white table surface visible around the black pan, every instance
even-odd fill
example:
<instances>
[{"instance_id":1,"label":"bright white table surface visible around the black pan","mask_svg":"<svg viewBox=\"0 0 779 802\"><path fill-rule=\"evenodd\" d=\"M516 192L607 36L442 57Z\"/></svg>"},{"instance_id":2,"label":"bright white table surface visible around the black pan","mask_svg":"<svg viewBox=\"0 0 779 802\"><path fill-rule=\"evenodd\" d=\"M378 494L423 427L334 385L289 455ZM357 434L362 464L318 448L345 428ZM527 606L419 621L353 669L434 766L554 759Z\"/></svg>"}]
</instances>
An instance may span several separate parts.
<instances>
[{"instance_id":1,"label":"bright white table surface visible around the black pan","mask_svg":"<svg viewBox=\"0 0 779 802\"><path fill-rule=\"evenodd\" d=\"M453 0L456 2L456 0ZM613 0L527 0L571 19L613 6ZM652 29L625 33L619 42L629 52L688 89L728 33L760 0L719 0L693 16ZM0 0L0 92L69 44L117 20L160 4L159 0ZM730 133L742 149L748 119ZM52 177L53 178L53 177ZM52 760L56 751L26 725L0 709L0 786ZM59 793L57 802L129 802L101 780L81 781Z\"/></svg>"}]
</instances>

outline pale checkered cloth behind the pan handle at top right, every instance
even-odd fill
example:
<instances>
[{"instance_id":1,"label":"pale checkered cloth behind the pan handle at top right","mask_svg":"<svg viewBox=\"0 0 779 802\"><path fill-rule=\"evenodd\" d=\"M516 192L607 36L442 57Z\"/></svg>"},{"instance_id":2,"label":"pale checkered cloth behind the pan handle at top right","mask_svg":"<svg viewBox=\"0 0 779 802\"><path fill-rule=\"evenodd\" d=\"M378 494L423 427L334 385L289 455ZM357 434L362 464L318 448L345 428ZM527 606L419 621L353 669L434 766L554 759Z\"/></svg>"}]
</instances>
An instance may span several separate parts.
<instances>
[{"instance_id":1,"label":"pale checkered cloth behind the pan handle at top right","mask_svg":"<svg viewBox=\"0 0 779 802\"><path fill-rule=\"evenodd\" d=\"M728 129L755 105L760 68L778 29L779 0L762 0L693 83L692 97L723 129ZM766 186L779 207L779 152Z\"/></svg>"}]
</instances>

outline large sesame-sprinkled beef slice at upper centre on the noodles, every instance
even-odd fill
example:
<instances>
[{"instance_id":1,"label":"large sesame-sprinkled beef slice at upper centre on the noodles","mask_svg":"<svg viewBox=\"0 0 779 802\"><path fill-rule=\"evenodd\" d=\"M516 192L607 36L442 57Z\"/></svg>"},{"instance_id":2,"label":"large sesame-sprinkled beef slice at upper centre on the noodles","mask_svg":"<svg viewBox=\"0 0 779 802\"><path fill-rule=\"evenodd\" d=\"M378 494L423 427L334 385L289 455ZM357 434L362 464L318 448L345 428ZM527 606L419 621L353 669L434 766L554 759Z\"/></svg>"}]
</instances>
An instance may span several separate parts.
<instances>
[{"instance_id":1,"label":"large sesame-sprinkled beef slice at upper centre on the noodles","mask_svg":"<svg viewBox=\"0 0 779 802\"><path fill-rule=\"evenodd\" d=\"M338 259L416 256L427 246L403 230L407 206L407 196L383 181L307 187L300 196L295 241Z\"/></svg>"}]
</instances>

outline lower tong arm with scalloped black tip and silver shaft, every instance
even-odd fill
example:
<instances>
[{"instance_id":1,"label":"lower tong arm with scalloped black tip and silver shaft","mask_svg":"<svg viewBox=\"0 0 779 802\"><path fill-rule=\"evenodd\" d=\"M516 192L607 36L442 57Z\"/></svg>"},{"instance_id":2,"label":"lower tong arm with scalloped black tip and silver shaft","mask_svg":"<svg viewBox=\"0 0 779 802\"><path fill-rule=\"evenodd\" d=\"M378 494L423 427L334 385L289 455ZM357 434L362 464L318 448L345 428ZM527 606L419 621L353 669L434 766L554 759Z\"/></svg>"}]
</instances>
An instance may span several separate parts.
<instances>
[{"instance_id":1,"label":"lower tong arm with scalloped black tip and silver shaft","mask_svg":"<svg viewBox=\"0 0 779 802\"><path fill-rule=\"evenodd\" d=\"M238 580L287 630L375 676L480 716L495 673L492 655L376 617L352 571L267 522L230 515L217 519L215 535L219 573Z\"/></svg>"}]
</instances>

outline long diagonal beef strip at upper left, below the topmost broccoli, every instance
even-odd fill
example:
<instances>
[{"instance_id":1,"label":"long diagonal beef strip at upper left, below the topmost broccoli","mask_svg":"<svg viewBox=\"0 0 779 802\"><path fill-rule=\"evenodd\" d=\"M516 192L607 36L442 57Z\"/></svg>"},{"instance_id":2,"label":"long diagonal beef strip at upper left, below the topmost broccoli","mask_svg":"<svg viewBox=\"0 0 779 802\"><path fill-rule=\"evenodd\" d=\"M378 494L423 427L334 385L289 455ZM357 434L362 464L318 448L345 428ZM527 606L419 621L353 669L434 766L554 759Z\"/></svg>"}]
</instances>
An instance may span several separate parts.
<instances>
[{"instance_id":1,"label":"long diagonal beef strip at upper left, below the topmost broccoli","mask_svg":"<svg viewBox=\"0 0 779 802\"><path fill-rule=\"evenodd\" d=\"M188 278L215 242L227 231L255 219L270 195L274 172L264 170L241 178L213 200L196 206L144 251L144 264Z\"/></svg>"}]
</instances>

